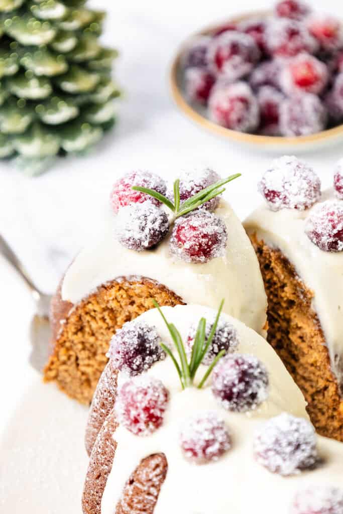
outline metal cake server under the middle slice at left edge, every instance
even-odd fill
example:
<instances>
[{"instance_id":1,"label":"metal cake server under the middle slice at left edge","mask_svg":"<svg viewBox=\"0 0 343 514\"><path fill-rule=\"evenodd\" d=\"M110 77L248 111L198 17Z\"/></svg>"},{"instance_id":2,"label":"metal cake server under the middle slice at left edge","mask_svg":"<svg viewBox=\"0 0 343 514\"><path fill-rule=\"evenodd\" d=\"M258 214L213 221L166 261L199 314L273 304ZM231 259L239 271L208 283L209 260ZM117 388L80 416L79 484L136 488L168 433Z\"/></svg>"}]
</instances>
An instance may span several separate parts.
<instances>
[{"instance_id":1,"label":"metal cake server under the middle slice at left edge","mask_svg":"<svg viewBox=\"0 0 343 514\"><path fill-rule=\"evenodd\" d=\"M6 243L1 234L0 253L4 255L8 262L12 264L12 266L20 274L28 286L35 301L36 312L30 325L31 353L29 362L35 370L42 373L50 353L51 328L49 323L49 308L51 296L46 295L33 284L25 267L20 262L19 258L17 258L14 251Z\"/></svg>"}]
</instances>

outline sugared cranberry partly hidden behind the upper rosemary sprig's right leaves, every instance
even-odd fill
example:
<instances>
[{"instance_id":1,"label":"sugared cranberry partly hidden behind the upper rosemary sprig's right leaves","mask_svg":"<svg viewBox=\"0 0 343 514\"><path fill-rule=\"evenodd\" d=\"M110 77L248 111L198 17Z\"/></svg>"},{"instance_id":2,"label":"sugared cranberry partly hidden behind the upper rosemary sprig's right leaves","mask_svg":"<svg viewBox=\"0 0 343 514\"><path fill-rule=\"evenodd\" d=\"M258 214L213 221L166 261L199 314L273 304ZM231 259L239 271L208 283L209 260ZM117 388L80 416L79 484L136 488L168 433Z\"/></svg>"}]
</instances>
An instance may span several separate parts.
<instances>
[{"instance_id":1,"label":"sugared cranberry partly hidden behind the upper rosemary sprig's right leaves","mask_svg":"<svg viewBox=\"0 0 343 514\"><path fill-rule=\"evenodd\" d=\"M200 193L200 191L208 188L215 182L218 182L220 179L221 177L218 175L218 173L210 170L209 168L184 172L182 175L180 175L180 203L182 204L191 196L194 196L196 193ZM173 199L173 191L171 189L167 190L167 196L171 200ZM200 209L214 211L219 206L219 203L220 197L215 196L200 206Z\"/></svg>"}]
</instances>

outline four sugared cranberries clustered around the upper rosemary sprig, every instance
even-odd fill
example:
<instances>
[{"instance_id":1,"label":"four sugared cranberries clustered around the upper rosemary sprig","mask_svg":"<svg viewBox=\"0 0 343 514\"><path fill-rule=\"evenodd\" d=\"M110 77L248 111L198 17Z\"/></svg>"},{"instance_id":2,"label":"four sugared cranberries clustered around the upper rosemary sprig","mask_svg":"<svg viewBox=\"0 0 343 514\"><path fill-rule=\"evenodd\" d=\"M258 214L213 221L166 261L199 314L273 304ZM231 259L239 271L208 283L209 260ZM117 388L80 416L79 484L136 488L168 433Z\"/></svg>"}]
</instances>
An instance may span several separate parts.
<instances>
[{"instance_id":1,"label":"four sugared cranberries clustered around the upper rosemary sprig","mask_svg":"<svg viewBox=\"0 0 343 514\"><path fill-rule=\"evenodd\" d=\"M180 202L219 180L219 175L209 169L184 173L179 182ZM110 203L118 216L116 236L123 246L136 251L153 248L171 230L170 251L178 259L206 263L223 254L227 244L226 226L212 212L219 206L219 197L211 198L201 208L180 216L171 227L161 202L133 190L134 186L151 189L173 200L171 188L153 173L131 172L118 180L112 188Z\"/></svg>"}]
</instances>

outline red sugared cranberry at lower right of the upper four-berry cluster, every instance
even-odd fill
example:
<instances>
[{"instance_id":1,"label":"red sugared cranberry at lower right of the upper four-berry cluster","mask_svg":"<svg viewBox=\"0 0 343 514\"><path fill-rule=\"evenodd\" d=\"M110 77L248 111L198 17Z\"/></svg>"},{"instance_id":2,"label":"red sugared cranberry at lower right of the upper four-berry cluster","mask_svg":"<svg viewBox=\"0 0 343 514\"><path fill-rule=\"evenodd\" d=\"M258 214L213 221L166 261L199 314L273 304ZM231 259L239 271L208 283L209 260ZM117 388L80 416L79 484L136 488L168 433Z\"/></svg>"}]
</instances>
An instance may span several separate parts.
<instances>
[{"instance_id":1,"label":"red sugared cranberry at lower right of the upper four-berry cluster","mask_svg":"<svg viewBox=\"0 0 343 514\"><path fill-rule=\"evenodd\" d=\"M214 214L201 210L176 219L170 238L171 252L180 260L205 263L224 254L226 225Z\"/></svg>"}]
</instances>

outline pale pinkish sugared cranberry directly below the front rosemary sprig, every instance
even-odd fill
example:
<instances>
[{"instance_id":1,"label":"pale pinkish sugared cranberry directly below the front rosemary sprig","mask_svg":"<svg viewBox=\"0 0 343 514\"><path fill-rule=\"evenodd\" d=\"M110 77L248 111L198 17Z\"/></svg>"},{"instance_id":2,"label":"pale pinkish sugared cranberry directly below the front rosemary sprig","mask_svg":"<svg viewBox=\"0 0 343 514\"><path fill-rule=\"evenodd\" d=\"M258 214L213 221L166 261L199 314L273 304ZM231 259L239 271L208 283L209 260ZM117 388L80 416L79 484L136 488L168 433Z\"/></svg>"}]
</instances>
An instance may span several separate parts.
<instances>
[{"instance_id":1,"label":"pale pinkish sugared cranberry directly below the front rosemary sprig","mask_svg":"<svg viewBox=\"0 0 343 514\"><path fill-rule=\"evenodd\" d=\"M218 461L231 447L224 420L214 411L187 419L180 433L180 444L185 456L197 464Z\"/></svg>"}]
</instances>

